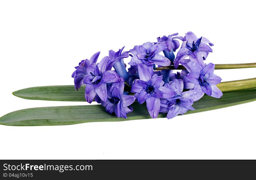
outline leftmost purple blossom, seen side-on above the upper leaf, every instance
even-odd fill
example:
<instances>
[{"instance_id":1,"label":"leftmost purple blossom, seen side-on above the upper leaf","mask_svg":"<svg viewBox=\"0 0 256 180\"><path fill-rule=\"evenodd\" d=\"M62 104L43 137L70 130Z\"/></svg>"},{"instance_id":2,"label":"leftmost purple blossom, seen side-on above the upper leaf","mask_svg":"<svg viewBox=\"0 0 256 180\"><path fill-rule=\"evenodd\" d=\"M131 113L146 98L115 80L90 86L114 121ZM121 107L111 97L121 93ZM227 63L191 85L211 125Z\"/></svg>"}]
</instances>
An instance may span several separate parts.
<instances>
[{"instance_id":1,"label":"leftmost purple blossom, seen side-on above the upper leaf","mask_svg":"<svg viewBox=\"0 0 256 180\"><path fill-rule=\"evenodd\" d=\"M96 63L99 57L99 53L97 52L93 54L93 56L90 58L90 60L82 60L79 63L79 66L75 67L76 70L72 73L72 78L74 78L74 85L75 89L79 90L81 88L81 85L83 84L83 78L87 74L86 68L90 66L93 63Z\"/></svg>"}]
</instances>

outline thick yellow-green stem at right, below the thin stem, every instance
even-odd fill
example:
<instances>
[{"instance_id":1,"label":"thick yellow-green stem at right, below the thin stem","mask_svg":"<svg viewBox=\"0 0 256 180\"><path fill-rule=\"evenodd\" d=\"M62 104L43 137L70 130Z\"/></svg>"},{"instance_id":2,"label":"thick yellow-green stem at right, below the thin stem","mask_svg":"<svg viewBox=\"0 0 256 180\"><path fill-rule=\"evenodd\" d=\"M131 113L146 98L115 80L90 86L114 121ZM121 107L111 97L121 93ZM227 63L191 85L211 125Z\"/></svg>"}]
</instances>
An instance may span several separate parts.
<instances>
[{"instance_id":1,"label":"thick yellow-green stem at right, below the thin stem","mask_svg":"<svg viewBox=\"0 0 256 180\"><path fill-rule=\"evenodd\" d=\"M256 88L256 78L221 82L217 87L222 92Z\"/></svg>"}]
</instances>

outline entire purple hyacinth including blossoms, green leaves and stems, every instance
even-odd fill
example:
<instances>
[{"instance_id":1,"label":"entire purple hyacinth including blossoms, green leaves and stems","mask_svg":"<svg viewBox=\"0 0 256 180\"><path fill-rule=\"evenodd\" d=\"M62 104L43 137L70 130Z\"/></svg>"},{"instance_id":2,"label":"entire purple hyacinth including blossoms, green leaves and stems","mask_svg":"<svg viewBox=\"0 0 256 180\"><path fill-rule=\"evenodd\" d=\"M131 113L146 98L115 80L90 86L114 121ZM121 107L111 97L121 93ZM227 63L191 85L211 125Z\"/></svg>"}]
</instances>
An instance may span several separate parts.
<instances>
[{"instance_id":1,"label":"entire purple hyacinth including blossoms, green leaves and stems","mask_svg":"<svg viewBox=\"0 0 256 180\"><path fill-rule=\"evenodd\" d=\"M256 78L221 82L221 78L214 74L214 69L251 68L256 67L256 63L206 65L204 60L212 52L210 46L213 44L192 32L184 37L177 35L159 37L158 42L146 42L130 51L123 52L124 47L117 52L110 50L109 56L99 63L97 52L90 60L82 60L75 67L72 74L75 89L86 85L86 101L95 100L105 108L101 105L31 108L0 117L0 124L37 126L122 121L145 119L148 113L152 118L167 113L167 118L171 119L194 108L201 112L256 100ZM178 40L183 41L180 47ZM161 51L166 57L159 54ZM131 67L127 67L127 72L124 58L128 56L131 56ZM174 63L171 63L173 59ZM178 66L179 63L183 66ZM174 73L177 67L182 71ZM225 98L216 99L205 94ZM84 101L83 95L74 93L68 85L26 88L13 92L13 95L25 99ZM138 104L133 109L130 105L135 99L139 104L145 102L147 109ZM134 112L127 115L131 111ZM45 117L42 117L44 113ZM116 120L113 113L122 118Z\"/></svg>"}]
</instances>

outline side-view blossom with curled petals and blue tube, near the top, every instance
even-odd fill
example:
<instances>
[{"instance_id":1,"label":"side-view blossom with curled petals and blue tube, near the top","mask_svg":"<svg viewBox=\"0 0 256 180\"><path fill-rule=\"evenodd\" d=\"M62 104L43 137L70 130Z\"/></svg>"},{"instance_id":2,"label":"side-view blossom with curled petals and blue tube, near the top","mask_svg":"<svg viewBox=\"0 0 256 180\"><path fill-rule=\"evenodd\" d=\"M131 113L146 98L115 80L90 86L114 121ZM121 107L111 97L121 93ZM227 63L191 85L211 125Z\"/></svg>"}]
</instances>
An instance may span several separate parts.
<instances>
[{"instance_id":1,"label":"side-view blossom with curled petals and blue tube, near the top","mask_svg":"<svg viewBox=\"0 0 256 180\"><path fill-rule=\"evenodd\" d=\"M163 50L163 54L166 58L168 58L172 63L175 59L175 55L173 52L175 52L179 48L179 41L175 40L175 38L180 39L184 41L184 37L177 36L178 33L174 33L168 36L158 37L157 38L157 44L163 44L167 48Z\"/></svg>"}]
</instances>

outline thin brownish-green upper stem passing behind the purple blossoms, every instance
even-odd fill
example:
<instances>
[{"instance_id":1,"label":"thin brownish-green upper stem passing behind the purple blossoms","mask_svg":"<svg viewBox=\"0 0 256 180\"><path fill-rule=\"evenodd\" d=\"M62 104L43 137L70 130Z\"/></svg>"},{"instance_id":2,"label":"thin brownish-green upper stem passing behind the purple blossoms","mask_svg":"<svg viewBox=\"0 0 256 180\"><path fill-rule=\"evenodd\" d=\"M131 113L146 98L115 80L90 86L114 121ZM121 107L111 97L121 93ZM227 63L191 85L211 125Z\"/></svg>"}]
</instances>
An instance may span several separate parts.
<instances>
[{"instance_id":1,"label":"thin brownish-green upper stem passing behind the purple blossoms","mask_svg":"<svg viewBox=\"0 0 256 180\"><path fill-rule=\"evenodd\" d=\"M241 69L241 68L252 68L256 67L256 63L245 63L245 64L216 64L215 69ZM157 67L155 70L163 70L163 69L170 69L174 70L174 66L165 66L165 67ZM179 65L178 70L186 69L184 66Z\"/></svg>"}]
</instances>

